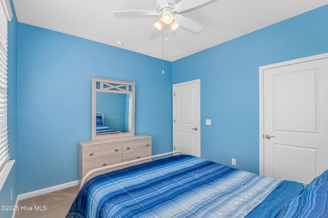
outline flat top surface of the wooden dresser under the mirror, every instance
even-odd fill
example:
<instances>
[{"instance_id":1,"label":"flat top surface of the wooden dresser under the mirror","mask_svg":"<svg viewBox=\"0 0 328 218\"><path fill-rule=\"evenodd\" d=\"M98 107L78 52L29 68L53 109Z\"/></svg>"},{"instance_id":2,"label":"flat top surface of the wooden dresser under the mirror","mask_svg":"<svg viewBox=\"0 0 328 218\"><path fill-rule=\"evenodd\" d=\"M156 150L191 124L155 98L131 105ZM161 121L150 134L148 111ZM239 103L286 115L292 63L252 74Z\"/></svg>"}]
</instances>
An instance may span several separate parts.
<instances>
[{"instance_id":1,"label":"flat top surface of the wooden dresser under the mirror","mask_svg":"<svg viewBox=\"0 0 328 218\"><path fill-rule=\"evenodd\" d=\"M93 144L122 143L122 142L130 142L135 140L143 140L143 139L151 139L151 138L152 136L149 135L132 135L132 136L124 136L124 137L116 137L116 138L85 140L85 141L79 141L78 143L81 146L91 146Z\"/></svg>"}]
</instances>

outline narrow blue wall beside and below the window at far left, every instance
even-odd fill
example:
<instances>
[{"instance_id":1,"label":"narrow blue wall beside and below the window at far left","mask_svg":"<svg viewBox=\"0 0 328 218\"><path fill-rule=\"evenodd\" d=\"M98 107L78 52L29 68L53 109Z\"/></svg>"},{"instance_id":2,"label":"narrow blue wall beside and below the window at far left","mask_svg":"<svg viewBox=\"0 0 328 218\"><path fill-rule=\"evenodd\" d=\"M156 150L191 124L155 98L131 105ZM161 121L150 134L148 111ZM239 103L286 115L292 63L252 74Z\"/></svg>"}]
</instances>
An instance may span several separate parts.
<instances>
[{"instance_id":1,"label":"narrow blue wall beside and below the window at far left","mask_svg":"<svg viewBox=\"0 0 328 218\"><path fill-rule=\"evenodd\" d=\"M8 131L9 152L11 159L17 158L17 19L15 10L10 0L13 13L12 21L8 22ZM10 189L13 199L10 201ZM0 192L0 205L15 205L17 198L17 162ZM12 211L0 211L0 217L11 217Z\"/></svg>"}]
</instances>

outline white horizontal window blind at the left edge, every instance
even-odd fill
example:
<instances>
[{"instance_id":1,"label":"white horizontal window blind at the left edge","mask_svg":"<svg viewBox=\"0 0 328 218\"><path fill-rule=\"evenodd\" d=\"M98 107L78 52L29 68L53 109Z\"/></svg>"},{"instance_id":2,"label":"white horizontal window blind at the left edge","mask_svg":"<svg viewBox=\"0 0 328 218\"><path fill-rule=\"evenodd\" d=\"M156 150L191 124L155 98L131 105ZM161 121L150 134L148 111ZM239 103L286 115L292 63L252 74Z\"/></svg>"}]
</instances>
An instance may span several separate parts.
<instances>
[{"instance_id":1,"label":"white horizontal window blind at the left edge","mask_svg":"<svg viewBox=\"0 0 328 218\"><path fill-rule=\"evenodd\" d=\"M10 159L8 149L7 121L7 47L8 20L12 14L8 0L1 0L0 5L0 172Z\"/></svg>"}]
</instances>

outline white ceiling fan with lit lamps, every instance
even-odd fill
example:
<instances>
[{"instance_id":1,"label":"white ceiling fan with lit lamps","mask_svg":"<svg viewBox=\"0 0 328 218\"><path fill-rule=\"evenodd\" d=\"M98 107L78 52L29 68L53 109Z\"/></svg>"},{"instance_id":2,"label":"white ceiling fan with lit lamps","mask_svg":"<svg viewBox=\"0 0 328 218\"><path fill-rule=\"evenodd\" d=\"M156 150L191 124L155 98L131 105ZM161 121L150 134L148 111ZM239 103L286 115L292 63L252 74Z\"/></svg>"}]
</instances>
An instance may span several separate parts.
<instances>
[{"instance_id":1,"label":"white ceiling fan with lit lamps","mask_svg":"<svg viewBox=\"0 0 328 218\"><path fill-rule=\"evenodd\" d=\"M150 39L156 39L164 25L170 26L172 32L179 26L194 33L202 31L202 27L192 19L179 14L179 12L191 11L215 0L154 0L156 11L114 11L115 17L158 17L150 34Z\"/></svg>"}]
</instances>

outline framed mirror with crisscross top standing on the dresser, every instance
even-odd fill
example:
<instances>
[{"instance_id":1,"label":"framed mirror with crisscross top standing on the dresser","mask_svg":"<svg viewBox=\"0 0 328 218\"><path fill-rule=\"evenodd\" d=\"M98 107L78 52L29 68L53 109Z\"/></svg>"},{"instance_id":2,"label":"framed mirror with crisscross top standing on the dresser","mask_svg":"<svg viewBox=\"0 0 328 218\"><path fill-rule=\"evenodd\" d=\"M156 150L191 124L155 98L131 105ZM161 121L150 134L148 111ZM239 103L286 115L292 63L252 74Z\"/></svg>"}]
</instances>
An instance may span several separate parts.
<instances>
[{"instance_id":1,"label":"framed mirror with crisscross top standing on the dresser","mask_svg":"<svg viewBox=\"0 0 328 218\"><path fill-rule=\"evenodd\" d=\"M134 135L135 83L92 78L92 140Z\"/></svg>"}]
</instances>

